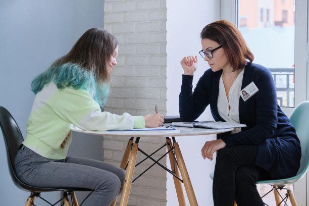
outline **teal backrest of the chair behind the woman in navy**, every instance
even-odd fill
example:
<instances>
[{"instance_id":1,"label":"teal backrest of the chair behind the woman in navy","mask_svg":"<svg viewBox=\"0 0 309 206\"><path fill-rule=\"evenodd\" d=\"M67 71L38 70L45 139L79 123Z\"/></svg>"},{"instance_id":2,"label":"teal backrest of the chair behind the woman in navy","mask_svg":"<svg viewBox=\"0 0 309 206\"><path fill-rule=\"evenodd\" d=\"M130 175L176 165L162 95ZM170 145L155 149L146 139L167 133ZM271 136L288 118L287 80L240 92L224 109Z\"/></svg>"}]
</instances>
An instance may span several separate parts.
<instances>
[{"instance_id":1,"label":"teal backrest of the chair behind the woman in navy","mask_svg":"<svg viewBox=\"0 0 309 206\"><path fill-rule=\"evenodd\" d=\"M304 175L309 166L309 101L298 105L290 117L300 140L301 160L297 175Z\"/></svg>"}]
</instances>

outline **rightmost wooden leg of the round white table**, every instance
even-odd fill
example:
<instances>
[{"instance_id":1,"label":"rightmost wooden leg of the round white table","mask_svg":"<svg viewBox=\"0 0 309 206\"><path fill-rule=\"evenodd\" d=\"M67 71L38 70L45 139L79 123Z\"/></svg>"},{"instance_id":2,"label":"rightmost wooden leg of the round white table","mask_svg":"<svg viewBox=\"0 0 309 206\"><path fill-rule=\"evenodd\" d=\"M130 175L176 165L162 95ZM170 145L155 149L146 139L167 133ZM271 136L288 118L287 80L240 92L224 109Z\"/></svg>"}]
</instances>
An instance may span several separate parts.
<instances>
[{"instance_id":1,"label":"rightmost wooden leg of the round white table","mask_svg":"<svg viewBox=\"0 0 309 206\"><path fill-rule=\"evenodd\" d=\"M180 174L181 174L181 177L182 177L182 180L183 180L183 184L185 186L187 196L188 196L188 199L189 199L189 202L190 202L190 206L197 206L198 204L197 204L197 201L196 201L196 197L195 197L195 194L194 194L194 191L193 191L193 187L192 187L192 184L191 184L191 181L190 181L190 177L189 177L186 165L184 163L179 145L178 145L177 142L174 142L173 146L174 146L174 151L175 151L175 155L176 155L176 158L177 158Z\"/></svg>"}]
</instances>

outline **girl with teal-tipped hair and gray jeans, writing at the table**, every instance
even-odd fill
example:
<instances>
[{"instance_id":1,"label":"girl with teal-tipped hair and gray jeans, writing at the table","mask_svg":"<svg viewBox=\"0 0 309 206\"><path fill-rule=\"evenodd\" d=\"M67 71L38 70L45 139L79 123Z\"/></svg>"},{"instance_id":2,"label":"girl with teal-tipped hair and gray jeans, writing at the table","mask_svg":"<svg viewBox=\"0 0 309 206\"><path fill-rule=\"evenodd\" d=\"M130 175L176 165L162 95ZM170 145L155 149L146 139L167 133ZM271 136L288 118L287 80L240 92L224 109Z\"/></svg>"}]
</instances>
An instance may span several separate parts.
<instances>
[{"instance_id":1,"label":"girl with teal-tipped hair and gray jeans, writing at the table","mask_svg":"<svg viewBox=\"0 0 309 206\"><path fill-rule=\"evenodd\" d=\"M125 179L121 168L67 157L73 125L106 131L159 127L160 114L131 116L102 112L110 73L117 65L118 41L105 30L87 30L70 52L32 81L36 94L25 141L15 159L17 175L37 187L88 188L83 205L110 205Z\"/></svg>"}]
</instances>

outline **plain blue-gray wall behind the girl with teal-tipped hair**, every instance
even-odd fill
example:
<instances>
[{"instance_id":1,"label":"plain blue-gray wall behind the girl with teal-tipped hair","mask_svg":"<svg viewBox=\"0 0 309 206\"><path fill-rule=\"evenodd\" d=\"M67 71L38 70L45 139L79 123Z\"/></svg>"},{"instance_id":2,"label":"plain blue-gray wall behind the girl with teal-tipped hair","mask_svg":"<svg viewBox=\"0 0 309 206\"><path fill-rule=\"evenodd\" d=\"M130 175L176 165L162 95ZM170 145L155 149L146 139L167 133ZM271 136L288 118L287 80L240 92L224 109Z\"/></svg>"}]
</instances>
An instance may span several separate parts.
<instances>
[{"instance_id":1,"label":"plain blue-gray wall behind the girl with teal-tipped hair","mask_svg":"<svg viewBox=\"0 0 309 206\"><path fill-rule=\"evenodd\" d=\"M104 0L0 1L0 105L12 113L23 135L34 97L31 80L66 54L87 29L102 28L103 13ZM69 155L100 160L102 139L74 134ZM28 193L10 178L2 133L0 166L1 205L24 205ZM47 194L54 200L58 196Z\"/></svg>"}]
</instances>

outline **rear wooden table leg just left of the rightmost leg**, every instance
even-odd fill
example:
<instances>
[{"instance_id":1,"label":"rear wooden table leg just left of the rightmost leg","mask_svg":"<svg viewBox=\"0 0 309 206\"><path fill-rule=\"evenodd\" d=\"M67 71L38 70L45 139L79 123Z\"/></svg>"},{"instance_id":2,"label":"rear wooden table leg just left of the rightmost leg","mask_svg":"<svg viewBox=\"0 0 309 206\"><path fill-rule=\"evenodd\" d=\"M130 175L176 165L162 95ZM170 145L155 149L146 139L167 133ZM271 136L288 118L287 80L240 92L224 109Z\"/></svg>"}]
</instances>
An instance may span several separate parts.
<instances>
[{"instance_id":1,"label":"rear wooden table leg just left of the rightmost leg","mask_svg":"<svg viewBox=\"0 0 309 206\"><path fill-rule=\"evenodd\" d=\"M167 149L170 150L172 148L172 141L169 137L166 138L166 142L167 142ZM172 172L174 172L174 174L176 176L179 177L179 172L178 172L178 167L175 164L175 159L173 156L172 151L169 152L169 159L170 159L170 163L171 163L171 170ZM174 184L175 184L175 189L176 189L176 193L177 193L177 198L178 198L178 202L179 202L179 206L185 206L186 205L186 201L184 198L184 194L182 191L182 185L180 180L178 180L176 177L173 176L173 180L174 180Z\"/></svg>"}]
</instances>

